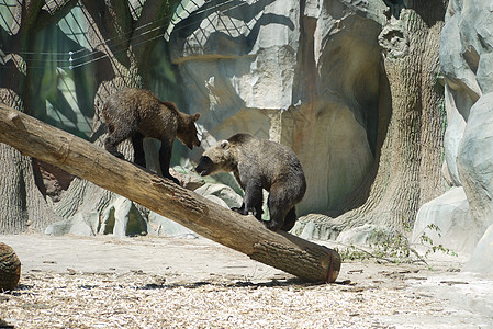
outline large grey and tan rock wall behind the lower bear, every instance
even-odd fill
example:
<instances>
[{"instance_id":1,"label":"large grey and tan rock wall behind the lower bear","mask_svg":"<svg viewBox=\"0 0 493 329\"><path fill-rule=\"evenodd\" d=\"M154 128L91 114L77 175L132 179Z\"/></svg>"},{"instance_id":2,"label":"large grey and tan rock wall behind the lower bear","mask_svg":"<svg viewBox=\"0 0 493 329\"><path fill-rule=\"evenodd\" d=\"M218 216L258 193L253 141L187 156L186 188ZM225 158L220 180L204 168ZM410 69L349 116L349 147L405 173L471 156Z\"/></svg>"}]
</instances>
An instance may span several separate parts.
<instances>
[{"instance_id":1,"label":"large grey and tan rock wall behind the lower bear","mask_svg":"<svg viewBox=\"0 0 493 329\"><path fill-rule=\"evenodd\" d=\"M190 2L170 45L188 110L202 113L202 149L192 159L217 139L248 132L299 155L309 185L299 215L340 203L373 160L384 8L379 1Z\"/></svg>"}]
</instances>

